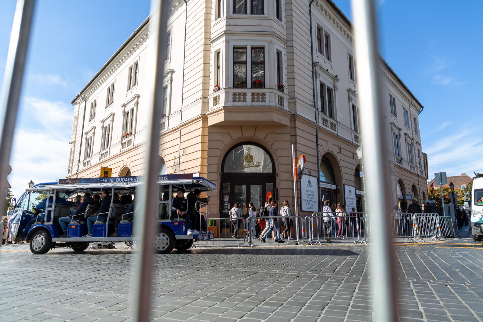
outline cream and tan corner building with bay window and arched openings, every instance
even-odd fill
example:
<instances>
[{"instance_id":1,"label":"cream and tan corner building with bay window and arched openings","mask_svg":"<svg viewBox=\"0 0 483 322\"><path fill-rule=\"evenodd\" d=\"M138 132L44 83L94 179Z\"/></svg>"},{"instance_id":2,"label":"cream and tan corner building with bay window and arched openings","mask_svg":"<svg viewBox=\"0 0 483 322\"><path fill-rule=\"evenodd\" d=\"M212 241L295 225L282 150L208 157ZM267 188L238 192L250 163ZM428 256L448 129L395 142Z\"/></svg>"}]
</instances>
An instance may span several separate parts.
<instances>
[{"instance_id":1,"label":"cream and tan corner building with bay window and arched openings","mask_svg":"<svg viewBox=\"0 0 483 322\"><path fill-rule=\"evenodd\" d=\"M113 176L144 173L148 25L149 18L72 100L68 177L98 177L101 166ZM355 150L364 111L353 37L351 22L330 0L312 4L312 46L308 0L172 1L160 173L200 173L215 182L213 216L226 216L237 201L259 208L269 196L293 207L294 144L312 175L319 161L319 202L345 204L350 186L362 211ZM423 106L383 59L380 69L392 201L405 209L411 197L426 197Z\"/></svg>"}]
</instances>

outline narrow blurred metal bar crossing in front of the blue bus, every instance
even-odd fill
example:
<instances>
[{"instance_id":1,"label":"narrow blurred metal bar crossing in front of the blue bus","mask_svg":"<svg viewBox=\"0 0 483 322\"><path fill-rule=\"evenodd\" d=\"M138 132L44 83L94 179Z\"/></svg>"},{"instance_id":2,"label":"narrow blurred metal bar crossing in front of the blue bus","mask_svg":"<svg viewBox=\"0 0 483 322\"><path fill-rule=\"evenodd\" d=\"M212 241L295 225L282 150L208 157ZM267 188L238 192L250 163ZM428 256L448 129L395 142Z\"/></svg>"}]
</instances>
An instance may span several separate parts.
<instances>
[{"instance_id":1,"label":"narrow blurred metal bar crossing in front of the blue bus","mask_svg":"<svg viewBox=\"0 0 483 322\"><path fill-rule=\"evenodd\" d=\"M138 254L137 284L135 294L135 320L147 322L149 320L149 302L151 293L152 265L153 265L153 240L156 235L156 205L158 200L158 174L159 163L159 131L161 109L163 106L163 77L164 77L164 53L166 51L166 28L168 20L167 0L152 0L152 14L150 16L150 32L156 41L152 44L150 55L153 59L152 70L154 72L153 86L149 88L151 93L147 95L146 106L152 109L146 111L146 150L144 152L144 164L146 165L144 184L140 186L140 214L137 218L136 235L140 236L140 252ZM153 76L153 75L152 75ZM150 83L151 80L147 82Z\"/></svg>"}]
</instances>

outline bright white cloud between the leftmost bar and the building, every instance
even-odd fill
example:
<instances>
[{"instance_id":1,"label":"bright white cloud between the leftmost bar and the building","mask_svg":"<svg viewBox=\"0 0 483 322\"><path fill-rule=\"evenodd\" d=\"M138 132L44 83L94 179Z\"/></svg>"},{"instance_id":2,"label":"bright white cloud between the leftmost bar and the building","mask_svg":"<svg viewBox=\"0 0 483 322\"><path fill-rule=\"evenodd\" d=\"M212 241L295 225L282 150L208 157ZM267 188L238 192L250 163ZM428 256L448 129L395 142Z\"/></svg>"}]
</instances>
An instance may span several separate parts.
<instances>
[{"instance_id":1,"label":"bright white cloud between the leftmost bar and the building","mask_svg":"<svg viewBox=\"0 0 483 322\"><path fill-rule=\"evenodd\" d=\"M28 120L19 120L14 133L8 181L15 196L20 196L28 182L55 182L65 178L69 159L72 108L63 102L24 98ZM26 126L36 120L35 126ZM27 121L27 122L26 122Z\"/></svg>"}]
</instances>

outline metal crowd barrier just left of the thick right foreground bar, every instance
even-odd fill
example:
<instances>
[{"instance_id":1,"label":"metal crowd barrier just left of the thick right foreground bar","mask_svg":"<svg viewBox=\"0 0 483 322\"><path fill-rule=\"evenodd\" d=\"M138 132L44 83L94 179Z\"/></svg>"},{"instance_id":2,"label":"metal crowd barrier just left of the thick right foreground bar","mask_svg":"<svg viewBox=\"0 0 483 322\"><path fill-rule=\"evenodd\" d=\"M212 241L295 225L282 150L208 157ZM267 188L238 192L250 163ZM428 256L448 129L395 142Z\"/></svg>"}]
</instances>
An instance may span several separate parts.
<instances>
[{"instance_id":1,"label":"metal crowd barrier just left of the thick right foreground bar","mask_svg":"<svg viewBox=\"0 0 483 322\"><path fill-rule=\"evenodd\" d=\"M366 244L369 238L370 220L363 212L314 212L304 218L304 240L309 244L321 244L321 240L352 241Z\"/></svg>"}]
</instances>

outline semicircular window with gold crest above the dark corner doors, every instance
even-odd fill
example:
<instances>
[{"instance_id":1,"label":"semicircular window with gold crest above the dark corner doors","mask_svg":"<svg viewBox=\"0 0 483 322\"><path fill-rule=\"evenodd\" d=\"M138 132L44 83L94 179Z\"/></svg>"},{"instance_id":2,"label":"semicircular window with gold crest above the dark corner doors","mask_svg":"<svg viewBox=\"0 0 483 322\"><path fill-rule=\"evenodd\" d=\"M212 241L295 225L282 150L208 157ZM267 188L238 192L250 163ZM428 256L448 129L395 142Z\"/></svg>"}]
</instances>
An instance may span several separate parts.
<instances>
[{"instance_id":1,"label":"semicircular window with gold crest above the dark corner doors","mask_svg":"<svg viewBox=\"0 0 483 322\"><path fill-rule=\"evenodd\" d=\"M261 147L241 144L232 148L226 155L224 173L273 173L270 155Z\"/></svg>"}]
</instances>

